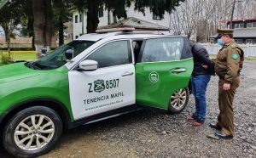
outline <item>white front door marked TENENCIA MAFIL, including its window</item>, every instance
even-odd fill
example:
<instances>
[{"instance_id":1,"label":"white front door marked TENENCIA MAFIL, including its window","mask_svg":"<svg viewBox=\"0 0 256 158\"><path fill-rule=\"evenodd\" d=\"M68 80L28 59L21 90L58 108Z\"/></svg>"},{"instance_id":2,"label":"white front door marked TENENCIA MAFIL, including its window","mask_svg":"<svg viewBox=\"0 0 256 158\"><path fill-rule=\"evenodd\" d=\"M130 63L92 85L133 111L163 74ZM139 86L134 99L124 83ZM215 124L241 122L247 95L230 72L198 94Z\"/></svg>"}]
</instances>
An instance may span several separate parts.
<instances>
[{"instance_id":1,"label":"white front door marked TENENCIA MAFIL, including its window","mask_svg":"<svg viewBox=\"0 0 256 158\"><path fill-rule=\"evenodd\" d=\"M86 59L96 71L69 71L70 101L75 120L135 104L135 67L131 42L108 42Z\"/></svg>"}]
</instances>

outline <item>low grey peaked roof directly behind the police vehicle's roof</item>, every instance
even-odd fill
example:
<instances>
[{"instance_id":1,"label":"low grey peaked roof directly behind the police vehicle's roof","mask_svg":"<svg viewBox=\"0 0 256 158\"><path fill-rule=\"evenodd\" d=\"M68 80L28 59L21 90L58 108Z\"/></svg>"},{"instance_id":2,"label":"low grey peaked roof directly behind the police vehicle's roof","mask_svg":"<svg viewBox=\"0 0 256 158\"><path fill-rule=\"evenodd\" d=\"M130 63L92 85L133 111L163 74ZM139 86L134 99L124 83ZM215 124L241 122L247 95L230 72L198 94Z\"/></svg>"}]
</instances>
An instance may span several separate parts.
<instances>
[{"instance_id":1,"label":"low grey peaked roof directly behind the police vehicle's roof","mask_svg":"<svg viewBox=\"0 0 256 158\"><path fill-rule=\"evenodd\" d=\"M139 20L134 17L127 18L125 20L119 20L119 22L112 25L104 25L98 27L98 30L109 29L116 27L134 27L137 31L169 31L170 28L154 24L145 20Z\"/></svg>"}]
</instances>

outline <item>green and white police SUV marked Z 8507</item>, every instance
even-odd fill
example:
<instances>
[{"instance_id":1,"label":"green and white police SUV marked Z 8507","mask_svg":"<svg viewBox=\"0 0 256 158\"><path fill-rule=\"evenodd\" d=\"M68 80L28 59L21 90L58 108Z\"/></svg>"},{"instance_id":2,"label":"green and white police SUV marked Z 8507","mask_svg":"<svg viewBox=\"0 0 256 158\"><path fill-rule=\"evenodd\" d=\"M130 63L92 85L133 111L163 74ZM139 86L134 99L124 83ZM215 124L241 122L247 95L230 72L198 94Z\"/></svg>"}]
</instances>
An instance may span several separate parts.
<instances>
[{"instance_id":1,"label":"green and white police SUV marked Z 8507","mask_svg":"<svg viewBox=\"0 0 256 158\"><path fill-rule=\"evenodd\" d=\"M64 129L141 105L183 110L193 70L188 37L123 30L0 67L1 144L11 155L43 155Z\"/></svg>"}]
</instances>

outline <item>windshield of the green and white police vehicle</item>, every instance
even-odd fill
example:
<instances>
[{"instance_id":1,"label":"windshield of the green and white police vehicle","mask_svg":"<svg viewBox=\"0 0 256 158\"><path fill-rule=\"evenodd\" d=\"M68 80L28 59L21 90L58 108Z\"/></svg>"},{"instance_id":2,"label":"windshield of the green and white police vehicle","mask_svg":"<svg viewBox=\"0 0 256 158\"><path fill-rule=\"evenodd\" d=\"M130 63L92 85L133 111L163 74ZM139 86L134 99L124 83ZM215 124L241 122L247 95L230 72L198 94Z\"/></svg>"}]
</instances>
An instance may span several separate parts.
<instances>
[{"instance_id":1,"label":"windshield of the green and white police vehicle","mask_svg":"<svg viewBox=\"0 0 256 158\"><path fill-rule=\"evenodd\" d=\"M73 49L73 57L89 48L93 43L91 41L73 41L69 42L60 48L56 48L52 53L47 54L44 58L34 62L27 62L26 66L38 70L51 70L67 63L65 52L68 49Z\"/></svg>"}]
</instances>

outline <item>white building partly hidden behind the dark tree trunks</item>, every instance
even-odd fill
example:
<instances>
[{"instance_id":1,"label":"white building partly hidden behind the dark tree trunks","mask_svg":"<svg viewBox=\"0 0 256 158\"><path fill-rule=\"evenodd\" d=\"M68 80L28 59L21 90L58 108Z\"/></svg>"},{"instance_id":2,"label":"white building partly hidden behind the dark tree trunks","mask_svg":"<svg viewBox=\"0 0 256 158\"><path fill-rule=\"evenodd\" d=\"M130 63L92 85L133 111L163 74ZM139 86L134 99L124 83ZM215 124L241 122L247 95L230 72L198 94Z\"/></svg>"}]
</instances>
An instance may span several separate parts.
<instances>
[{"instance_id":1,"label":"white building partly hidden behind the dark tree trunks","mask_svg":"<svg viewBox=\"0 0 256 158\"><path fill-rule=\"evenodd\" d=\"M154 15L153 13L150 13L149 8L146 8L144 16L143 13L134 10L134 3L131 3L131 7L126 8L126 14L127 17L136 17L140 20L146 20L154 24L170 27L170 14L168 14L167 12L164 15L164 18L160 19L160 17ZM110 22L113 23L112 13L110 13L110 17ZM84 33L86 33L86 20L86 13L84 13ZM98 26L108 25L108 10L103 9L103 7L99 10L99 20L100 23ZM76 39L82 35L82 21L82 14L79 13L78 10L73 10L73 39Z\"/></svg>"}]
</instances>

